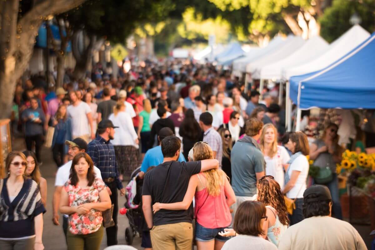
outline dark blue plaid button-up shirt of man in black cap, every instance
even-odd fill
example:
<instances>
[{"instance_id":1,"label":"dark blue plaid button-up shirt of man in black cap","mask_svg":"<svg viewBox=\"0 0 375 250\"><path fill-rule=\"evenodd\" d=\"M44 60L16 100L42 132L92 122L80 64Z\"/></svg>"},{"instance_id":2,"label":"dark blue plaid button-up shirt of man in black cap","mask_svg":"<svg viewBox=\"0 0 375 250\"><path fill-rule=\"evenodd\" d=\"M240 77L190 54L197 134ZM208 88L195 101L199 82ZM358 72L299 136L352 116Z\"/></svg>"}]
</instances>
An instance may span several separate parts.
<instances>
[{"instance_id":1,"label":"dark blue plaid button-up shirt of man in black cap","mask_svg":"<svg viewBox=\"0 0 375 250\"><path fill-rule=\"evenodd\" d=\"M122 189L122 183L118 178L119 174L113 144L98 135L95 140L89 143L88 148L87 153L93 160L94 165L99 168L102 178L113 178L117 184L117 188Z\"/></svg>"}]
</instances>

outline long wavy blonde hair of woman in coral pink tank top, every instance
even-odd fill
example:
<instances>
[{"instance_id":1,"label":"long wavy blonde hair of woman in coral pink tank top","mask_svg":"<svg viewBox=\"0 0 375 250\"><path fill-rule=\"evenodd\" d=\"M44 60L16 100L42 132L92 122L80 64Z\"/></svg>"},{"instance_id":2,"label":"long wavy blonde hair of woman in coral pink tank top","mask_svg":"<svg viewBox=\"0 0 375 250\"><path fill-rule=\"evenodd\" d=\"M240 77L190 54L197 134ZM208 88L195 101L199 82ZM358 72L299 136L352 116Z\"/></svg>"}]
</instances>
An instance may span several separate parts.
<instances>
[{"instance_id":1,"label":"long wavy blonde hair of woman in coral pink tank top","mask_svg":"<svg viewBox=\"0 0 375 250\"><path fill-rule=\"evenodd\" d=\"M213 159L213 152L211 147L204 142L196 143L193 147L194 161L201 161L205 159ZM223 185L223 177L228 178L224 171L220 169L211 169L204 171L206 179L206 188L208 194L217 196L220 194L221 186Z\"/></svg>"}]
</instances>

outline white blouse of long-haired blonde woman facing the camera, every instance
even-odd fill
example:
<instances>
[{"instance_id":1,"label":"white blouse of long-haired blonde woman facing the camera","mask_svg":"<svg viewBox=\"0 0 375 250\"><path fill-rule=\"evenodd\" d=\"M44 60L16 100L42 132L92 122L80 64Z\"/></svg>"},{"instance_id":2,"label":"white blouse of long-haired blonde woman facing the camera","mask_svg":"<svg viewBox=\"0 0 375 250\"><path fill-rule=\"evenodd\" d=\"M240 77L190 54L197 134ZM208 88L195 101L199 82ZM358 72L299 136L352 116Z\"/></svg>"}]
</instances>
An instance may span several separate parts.
<instances>
[{"instance_id":1,"label":"white blouse of long-haired blonde woman facing the camera","mask_svg":"<svg viewBox=\"0 0 375 250\"><path fill-rule=\"evenodd\" d=\"M269 156L264 156L266 161L266 175L273 176L276 182L279 183L281 190L284 188L284 167L283 164L287 164L290 160L290 156L283 146L278 146L278 152L270 158Z\"/></svg>"}]
</instances>

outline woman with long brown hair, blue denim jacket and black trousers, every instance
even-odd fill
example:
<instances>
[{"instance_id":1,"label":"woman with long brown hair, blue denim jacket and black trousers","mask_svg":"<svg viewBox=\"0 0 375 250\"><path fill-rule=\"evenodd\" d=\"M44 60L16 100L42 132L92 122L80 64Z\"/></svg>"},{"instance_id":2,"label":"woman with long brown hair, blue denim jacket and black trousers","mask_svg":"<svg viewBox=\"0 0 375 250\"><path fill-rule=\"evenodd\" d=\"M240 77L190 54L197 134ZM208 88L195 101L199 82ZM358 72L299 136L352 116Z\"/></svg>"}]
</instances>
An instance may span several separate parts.
<instances>
[{"instance_id":1,"label":"woman with long brown hair, blue denim jacket and black trousers","mask_svg":"<svg viewBox=\"0 0 375 250\"><path fill-rule=\"evenodd\" d=\"M72 140L72 118L68 117L65 105L58 106L52 125L55 127L52 155L57 167L60 167L66 162L65 156L68 154L68 146L65 145L65 141Z\"/></svg>"}]
</instances>

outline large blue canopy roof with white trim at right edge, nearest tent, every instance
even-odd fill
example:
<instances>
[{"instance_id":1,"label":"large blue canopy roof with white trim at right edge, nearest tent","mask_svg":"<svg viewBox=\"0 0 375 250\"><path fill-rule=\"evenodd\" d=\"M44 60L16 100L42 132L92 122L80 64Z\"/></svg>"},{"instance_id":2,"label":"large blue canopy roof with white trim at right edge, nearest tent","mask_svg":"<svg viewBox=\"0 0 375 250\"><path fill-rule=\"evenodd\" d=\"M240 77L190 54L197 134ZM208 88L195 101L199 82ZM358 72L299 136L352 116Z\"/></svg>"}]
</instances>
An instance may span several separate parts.
<instances>
[{"instance_id":1,"label":"large blue canopy roof with white trim at right edge, nearest tent","mask_svg":"<svg viewBox=\"0 0 375 250\"><path fill-rule=\"evenodd\" d=\"M375 108L375 33L328 67L290 79L300 109Z\"/></svg>"}]
</instances>

